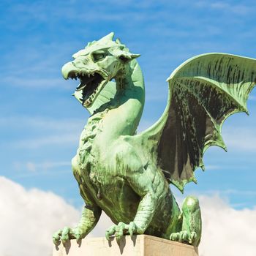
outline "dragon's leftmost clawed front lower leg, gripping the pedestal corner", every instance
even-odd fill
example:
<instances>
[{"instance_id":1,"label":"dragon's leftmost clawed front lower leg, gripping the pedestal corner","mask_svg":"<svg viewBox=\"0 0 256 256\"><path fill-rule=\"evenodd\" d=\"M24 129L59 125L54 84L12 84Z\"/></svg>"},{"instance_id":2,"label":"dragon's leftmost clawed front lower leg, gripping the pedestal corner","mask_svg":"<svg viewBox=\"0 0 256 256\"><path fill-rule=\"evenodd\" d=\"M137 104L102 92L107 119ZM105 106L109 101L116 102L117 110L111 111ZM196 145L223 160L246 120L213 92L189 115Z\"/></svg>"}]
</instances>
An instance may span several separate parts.
<instances>
[{"instance_id":1,"label":"dragon's leftmost clawed front lower leg, gripping the pedestal corner","mask_svg":"<svg viewBox=\"0 0 256 256\"><path fill-rule=\"evenodd\" d=\"M63 244L66 244L70 239L79 241L85 238L99 221L101 213L102 210L98 206L85 206L77 227L64 227L62 230L57 231L53 234L53 243L58 245L62 241Z\"/></svg>"}]
</instances>

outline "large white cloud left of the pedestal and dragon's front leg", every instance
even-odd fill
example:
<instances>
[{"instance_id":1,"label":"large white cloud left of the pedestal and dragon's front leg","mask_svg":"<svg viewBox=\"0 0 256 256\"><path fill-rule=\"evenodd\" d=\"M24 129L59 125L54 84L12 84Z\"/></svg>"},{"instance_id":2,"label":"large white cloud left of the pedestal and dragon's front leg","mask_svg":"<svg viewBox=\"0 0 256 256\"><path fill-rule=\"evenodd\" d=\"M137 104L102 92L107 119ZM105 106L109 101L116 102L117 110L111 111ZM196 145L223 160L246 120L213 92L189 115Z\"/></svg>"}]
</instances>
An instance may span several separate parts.
<instances>
[{"instance_id":1,"label":"large white cloud left of the pedestal and dragon's front leg","mask_svg":"<svg viewBox=\"0 0 256 256\"><path fill-rule=\"evenodd\" d=\"M52 233L75 225L79 211L52 192L26 190L4 177L0 184L0 255L50 256Z\"/></svg>"}]
</instances>

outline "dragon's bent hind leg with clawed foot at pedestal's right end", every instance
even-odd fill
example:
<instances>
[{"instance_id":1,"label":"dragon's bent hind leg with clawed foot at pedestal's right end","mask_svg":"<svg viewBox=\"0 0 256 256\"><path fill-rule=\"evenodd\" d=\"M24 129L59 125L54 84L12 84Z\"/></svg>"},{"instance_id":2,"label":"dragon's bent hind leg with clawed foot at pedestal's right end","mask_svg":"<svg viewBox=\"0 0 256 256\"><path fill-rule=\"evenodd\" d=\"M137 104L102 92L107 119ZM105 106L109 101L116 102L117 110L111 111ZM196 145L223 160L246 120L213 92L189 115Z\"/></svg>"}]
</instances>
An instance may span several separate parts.
<instances>
[{"instance_id":1,"label":"dragon's bent hind leg with clawed foot at pedestal's right end","mask_svg":"<svg viewBox=\"0 0 256 256\"><path fill-rule=\"evenodd\" d=\"M202 233L202 219L199 201L196 197L186 197L182 205L181 232L170 234L170 240L198 246Z\"/></svg>"}]
</instances>

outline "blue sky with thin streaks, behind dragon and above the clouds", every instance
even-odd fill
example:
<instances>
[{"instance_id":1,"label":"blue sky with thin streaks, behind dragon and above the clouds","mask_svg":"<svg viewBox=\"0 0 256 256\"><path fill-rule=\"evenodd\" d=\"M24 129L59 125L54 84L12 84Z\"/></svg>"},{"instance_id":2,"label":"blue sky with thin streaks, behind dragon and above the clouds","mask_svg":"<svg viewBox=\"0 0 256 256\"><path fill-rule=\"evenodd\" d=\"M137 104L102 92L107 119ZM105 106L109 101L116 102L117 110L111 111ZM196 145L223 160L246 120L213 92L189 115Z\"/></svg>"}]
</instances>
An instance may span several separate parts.
<instances>
[{"instance_id":1,"label":"blue sky with thin streaks, behind dragon and above the clouds","mask_svg":"<svg viewBox=\"0 0 256 256\"><path fill-rule=\"evenodd\" d=\"M61 67L87 42L114 31L138 59L146 81L145 129L161 116L165 79L186 59L224 52L256 58L255 1L12 1L0 3L0 175L83 204L70 160L89 114ZM250 116L223 128L228 152L210 148L206 172L186 194L220 195L233 208L256 206L256 91ZM176 195L180 195L173 188Z\"/></svg>"}]
</instances>

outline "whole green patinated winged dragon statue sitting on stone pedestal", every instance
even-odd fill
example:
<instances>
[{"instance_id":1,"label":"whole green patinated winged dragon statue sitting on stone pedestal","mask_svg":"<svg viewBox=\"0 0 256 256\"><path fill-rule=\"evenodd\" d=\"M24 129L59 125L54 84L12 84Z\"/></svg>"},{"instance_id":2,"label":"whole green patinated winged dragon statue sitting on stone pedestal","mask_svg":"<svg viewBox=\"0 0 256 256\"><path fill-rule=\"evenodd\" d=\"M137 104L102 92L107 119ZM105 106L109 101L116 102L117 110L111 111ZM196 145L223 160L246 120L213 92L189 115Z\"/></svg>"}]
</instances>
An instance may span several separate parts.
<instances>
[{"instance_id":1,"label":"whole green patinated winged dragon statue sitting on stone pedestal","mask_svg":"<svg viewBox=\"0 0 256 256\"><path fill-rule=\"evenodd\" d=\"M107 239L145 233L198 246L199 202L186 197L180 209L170 184L183 192L188 182L196 183L195 169L204 170L206 149L226 149L222 124L233 113L247 113L256 60L207 53L185 61L167 78L161 118L137 134L145 100L140 55L113 36L89 42L62 67L65 79L80 80L74 96L91 116L72 159L86 206L77 227L59 230L53 242L84 238L103 210L115 224Z\"/></svg>"}]
</instances>

